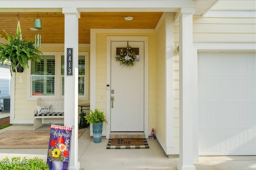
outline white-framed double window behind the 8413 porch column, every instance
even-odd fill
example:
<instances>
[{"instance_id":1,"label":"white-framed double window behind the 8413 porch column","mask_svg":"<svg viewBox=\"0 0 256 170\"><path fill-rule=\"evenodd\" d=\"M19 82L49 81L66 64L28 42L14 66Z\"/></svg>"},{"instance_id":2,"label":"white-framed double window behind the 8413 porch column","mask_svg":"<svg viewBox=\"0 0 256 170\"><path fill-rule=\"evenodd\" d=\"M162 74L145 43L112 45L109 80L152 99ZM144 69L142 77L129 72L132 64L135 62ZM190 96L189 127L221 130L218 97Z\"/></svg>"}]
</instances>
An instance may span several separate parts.
<instances>
[{"instance_id":1,"label":"white-framed double window behind the 8413 porch column","mask_svg":"<svg viewBox=\"0 0 256 170\"><path fill-rule=\"evenodd\" d=\"M78 99L88 100L88 57L78 56ZM42 96L64 98L64 55L59 52L44 52L41 62L31 61L28 69L28 100Z\"/></svg>"}]
</instances>

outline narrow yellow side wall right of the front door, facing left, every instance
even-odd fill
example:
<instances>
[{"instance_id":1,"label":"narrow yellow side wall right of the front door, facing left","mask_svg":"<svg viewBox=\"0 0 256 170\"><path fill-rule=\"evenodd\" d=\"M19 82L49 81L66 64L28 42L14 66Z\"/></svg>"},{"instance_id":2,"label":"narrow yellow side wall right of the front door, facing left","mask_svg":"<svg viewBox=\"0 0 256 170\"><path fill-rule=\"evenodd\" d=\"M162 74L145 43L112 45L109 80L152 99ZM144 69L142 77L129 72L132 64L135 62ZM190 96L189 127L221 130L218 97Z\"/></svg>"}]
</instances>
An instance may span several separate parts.
<instances>
[{"instance_id":1,"label":"narrow yellow side wall right of the front door, facing left","mask_svg":"<svg viewBox=\"0 0 256 170\"><path fill-rule=\"evenodd\" d=\"M165 47L165 24L163 20L156 30L156 131L164 143L166 142Z\"/></svg>"}]
</instances>

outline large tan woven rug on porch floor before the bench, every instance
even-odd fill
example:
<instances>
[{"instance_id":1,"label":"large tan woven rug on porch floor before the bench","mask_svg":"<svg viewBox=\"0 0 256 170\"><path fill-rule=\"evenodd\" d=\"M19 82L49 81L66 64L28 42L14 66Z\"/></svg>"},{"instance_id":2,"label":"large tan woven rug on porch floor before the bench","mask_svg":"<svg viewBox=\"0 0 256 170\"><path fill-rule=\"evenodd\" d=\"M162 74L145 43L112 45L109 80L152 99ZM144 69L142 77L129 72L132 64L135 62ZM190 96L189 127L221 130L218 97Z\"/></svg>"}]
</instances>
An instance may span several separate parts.
<instances>
[{"instance_id":1,"label":"large tan woven rug on porch floor before the bench","mask_svg":"<svg viewBox=\"0 0 256 170\"><path fill-rule=\"evenodd\" d=\"M78 138L85 129L78 130ZM0 149L47 149L49 147L49 131L5 131L0 133Z\"/></svg>"}]
</instances>

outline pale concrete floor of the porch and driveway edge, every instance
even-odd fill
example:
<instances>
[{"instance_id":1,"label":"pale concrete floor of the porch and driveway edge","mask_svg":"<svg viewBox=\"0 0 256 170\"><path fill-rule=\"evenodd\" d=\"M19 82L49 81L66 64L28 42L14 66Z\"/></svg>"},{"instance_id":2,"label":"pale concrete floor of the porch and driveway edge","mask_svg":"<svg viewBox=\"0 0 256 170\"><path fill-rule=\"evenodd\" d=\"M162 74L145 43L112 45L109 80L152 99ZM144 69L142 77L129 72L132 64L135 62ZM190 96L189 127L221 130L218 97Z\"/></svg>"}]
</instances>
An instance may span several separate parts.
<instances>
[{"instance_id":1,"label":"pale concrete floor of the porch and driveway edge","mask_svg":"<svg viewBox=\"0 0 256 170\"><path fill-rule=\"evenodd\" d=\"M12 125L4 131L32 130L32 125ZM37 130L48 130L44 125ZM102 137L101 143L93 143L90 127L78 139L78 161L80 170L176 170L178 156L166 156L157 139L147 139L150 149L106 149L108 139ZM46 161L48 149L0 149L0 159L8 156L34 158L38 156ZM255 170L256 156L200 156L194 162L196 170Z\"/></svg>"}]
</instances>

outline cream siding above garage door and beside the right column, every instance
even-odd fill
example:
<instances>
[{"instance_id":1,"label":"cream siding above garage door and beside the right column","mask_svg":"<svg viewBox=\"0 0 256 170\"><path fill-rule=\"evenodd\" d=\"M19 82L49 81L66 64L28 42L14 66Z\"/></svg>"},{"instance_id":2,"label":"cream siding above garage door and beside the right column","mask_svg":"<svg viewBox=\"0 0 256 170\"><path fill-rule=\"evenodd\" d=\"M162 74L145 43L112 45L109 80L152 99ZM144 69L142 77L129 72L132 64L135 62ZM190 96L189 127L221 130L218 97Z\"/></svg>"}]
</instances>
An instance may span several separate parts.
<instances>
[{"instance_id":1,"label":"cream siding above garage door and beside the right column","mask_svg":"<svg viewBox=\"0 0 256 170\"><path fill-rule=\"evenodd\" d=\"M255 42L255 18L193 18L193 42ZM174 26L174 42L179 26ZM175 55L175 54L174 54ZM174 57L174 146L179 147L179 56Z\"/></svg>"}]
</instances>

